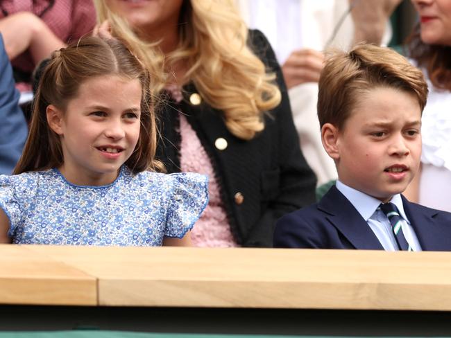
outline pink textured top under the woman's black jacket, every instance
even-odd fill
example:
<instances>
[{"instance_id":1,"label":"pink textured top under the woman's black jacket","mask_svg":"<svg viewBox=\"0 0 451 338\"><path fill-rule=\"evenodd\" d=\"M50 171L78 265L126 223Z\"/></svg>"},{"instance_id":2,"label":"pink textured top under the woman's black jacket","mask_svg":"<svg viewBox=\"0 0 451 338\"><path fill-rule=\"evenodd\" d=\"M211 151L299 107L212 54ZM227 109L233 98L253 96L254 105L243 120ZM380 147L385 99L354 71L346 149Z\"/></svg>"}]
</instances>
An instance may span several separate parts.
<instances>
[{"instance_id":1,"label":"pink textured top under the woman's black jacket","mask_svg":"<svg viewBox=\"0 0 451 338\"><path fill-rule=\"evenodd\" d=\"M180 101L180 89L167 87L175 100ZM198 172L208 175L210 201L191 231L195 247L238 247L232 236L224 208L219 184L207 152L185 115L180 114L180 168L182 172Z\"/></svg>"}]
</instances>

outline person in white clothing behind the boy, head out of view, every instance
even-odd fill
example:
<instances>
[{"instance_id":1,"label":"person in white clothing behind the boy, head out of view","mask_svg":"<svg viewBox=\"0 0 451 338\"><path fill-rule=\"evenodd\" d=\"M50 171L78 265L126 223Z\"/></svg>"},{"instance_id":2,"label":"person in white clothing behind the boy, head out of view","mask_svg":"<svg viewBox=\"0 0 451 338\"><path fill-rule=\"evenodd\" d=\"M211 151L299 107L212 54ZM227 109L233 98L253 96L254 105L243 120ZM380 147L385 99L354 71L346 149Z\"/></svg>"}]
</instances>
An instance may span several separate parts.
<instances>
[{"instance_id":1,"label":"person in white clothing behind the boy, head out of view","mask_svg":"<svg viewBox=\"0 0 451 338\"><path fill-rule=\"evenodd\" d=\"M401 0L235 1L248 26L269 38L282 64L300 145L318 184L337 179L316 117L323 51L329 47L347 50L362 41L388 43L387 18Z\"/></svg>"}]
</instances>

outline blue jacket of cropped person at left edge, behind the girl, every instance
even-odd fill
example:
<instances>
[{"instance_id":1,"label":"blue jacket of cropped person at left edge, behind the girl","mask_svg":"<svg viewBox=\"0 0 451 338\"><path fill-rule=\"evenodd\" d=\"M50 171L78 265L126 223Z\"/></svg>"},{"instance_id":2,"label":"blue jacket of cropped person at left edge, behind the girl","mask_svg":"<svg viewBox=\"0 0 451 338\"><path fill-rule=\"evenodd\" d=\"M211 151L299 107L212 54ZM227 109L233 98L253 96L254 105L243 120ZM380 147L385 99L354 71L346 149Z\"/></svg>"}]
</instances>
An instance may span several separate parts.
<instances>
[{"instance_id":1,"label":"blue jacket of cropped person at left edge, behind the girl","mask_svg":"<svg viewBox=\"0 0 451 338\"><path fill-rule=\"evenodd\" d=\"M10 174L22 154L28 127L1 35L0 74L0 174Z\"/></svg>"}]
</instances>

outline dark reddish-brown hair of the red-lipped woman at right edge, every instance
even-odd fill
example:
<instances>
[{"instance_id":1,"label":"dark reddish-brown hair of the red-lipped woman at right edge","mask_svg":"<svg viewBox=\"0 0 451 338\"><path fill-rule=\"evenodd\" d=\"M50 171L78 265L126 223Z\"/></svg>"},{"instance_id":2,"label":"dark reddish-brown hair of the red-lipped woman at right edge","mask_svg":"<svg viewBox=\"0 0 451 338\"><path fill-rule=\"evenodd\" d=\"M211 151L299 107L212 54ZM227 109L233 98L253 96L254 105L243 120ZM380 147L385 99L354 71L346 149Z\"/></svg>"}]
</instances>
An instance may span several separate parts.
<instances>
[{"instance_id":1,"label":"dark reddish-brown hair of the red-lipped woman at right edge","mask_svg":"<svg viewBox=\"0 0 451 338\"><path fill-rule=\"evenodd\" d=\"M451 46L425 44L421 41L420 24L407 38L409 57L427 71L434 87L451 91Z\"/></svg>"}]
</instances>

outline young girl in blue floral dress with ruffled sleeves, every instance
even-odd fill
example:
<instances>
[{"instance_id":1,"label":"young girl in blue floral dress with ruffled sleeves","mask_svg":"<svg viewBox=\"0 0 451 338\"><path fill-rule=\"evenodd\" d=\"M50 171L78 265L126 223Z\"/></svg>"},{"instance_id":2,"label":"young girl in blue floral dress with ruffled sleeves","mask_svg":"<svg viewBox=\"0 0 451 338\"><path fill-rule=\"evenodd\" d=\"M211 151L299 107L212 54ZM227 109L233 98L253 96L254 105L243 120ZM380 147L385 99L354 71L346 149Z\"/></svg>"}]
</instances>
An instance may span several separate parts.
<instances>
[{"instance_id":1,"label":"young girl in blue floral dress with ruffled sleeves","mask_svg":"<svg viewBox=\"0 0 451 338\"><path fill-rule=\"evenodd\" d=\"M53 53L15 175L0 176L0 242L157 246L185 236L207 204L207 177L153 171L148 85L117 40Z\"/></svg>"}]
</instances>

